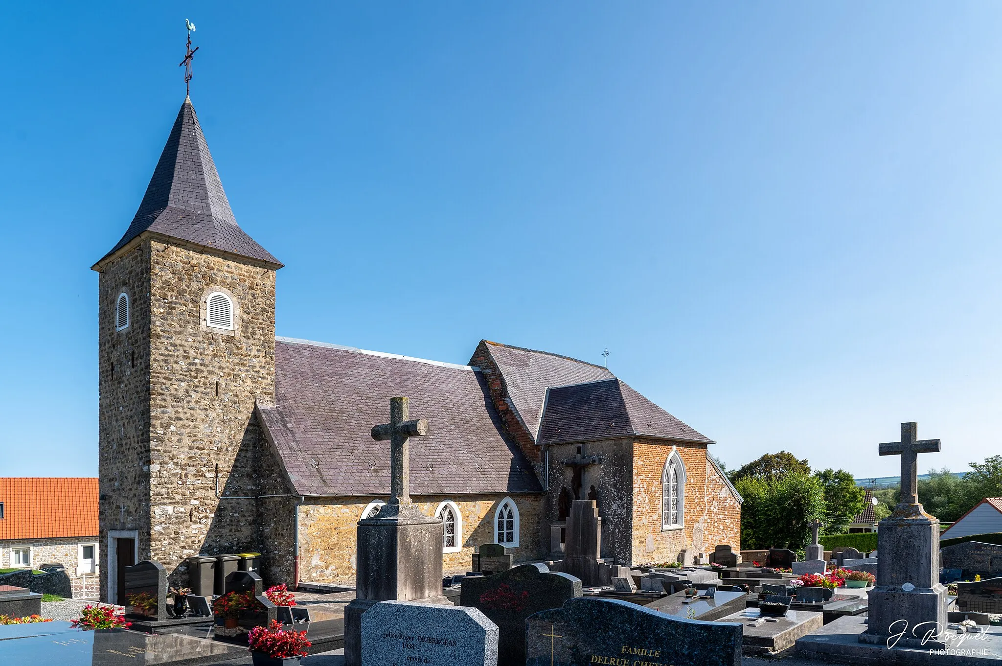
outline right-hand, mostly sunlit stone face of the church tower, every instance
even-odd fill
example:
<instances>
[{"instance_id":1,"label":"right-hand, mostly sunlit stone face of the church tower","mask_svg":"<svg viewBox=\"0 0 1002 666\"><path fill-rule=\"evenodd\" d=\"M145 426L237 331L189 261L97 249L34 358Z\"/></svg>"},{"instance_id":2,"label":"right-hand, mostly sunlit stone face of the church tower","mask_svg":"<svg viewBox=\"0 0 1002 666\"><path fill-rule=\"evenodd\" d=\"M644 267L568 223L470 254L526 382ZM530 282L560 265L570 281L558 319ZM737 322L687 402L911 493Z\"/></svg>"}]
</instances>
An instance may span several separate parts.
<instances>
[{"instance_id":1,"label":"right-hand, mostly sunlit stone face of the church tower","mask_svg":"<svg viewBox=\"0 0 1002 666\"><path fill-rule=\"evenodd\" d=\"M151 532L139 548L183 583L189 555L260 550L257 503L234 498L259 495L265 474L254 407L275 400L275 271L151 242L150 272ZM204 324L216 289L234 300L234 331Z\"/></svg>"}]
</instances>

